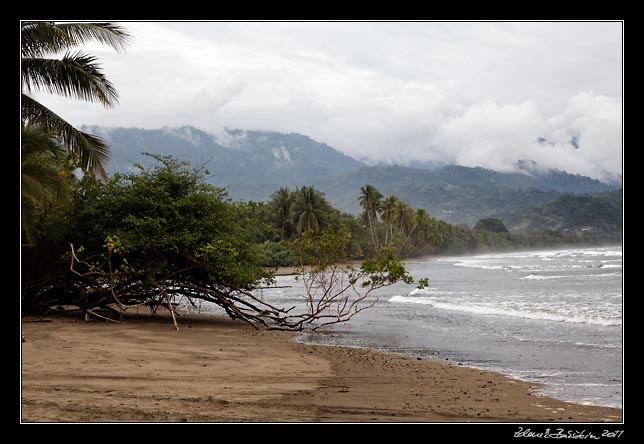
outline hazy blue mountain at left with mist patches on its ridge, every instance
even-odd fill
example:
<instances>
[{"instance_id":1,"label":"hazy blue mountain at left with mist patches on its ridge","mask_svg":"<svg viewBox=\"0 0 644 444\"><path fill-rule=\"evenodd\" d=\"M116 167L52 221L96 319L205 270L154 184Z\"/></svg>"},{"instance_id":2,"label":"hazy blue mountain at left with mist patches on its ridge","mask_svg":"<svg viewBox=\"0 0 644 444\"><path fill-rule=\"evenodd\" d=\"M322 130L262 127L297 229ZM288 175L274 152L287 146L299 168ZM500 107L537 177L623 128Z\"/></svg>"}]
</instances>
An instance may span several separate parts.
<instances>
[{"instance_id":1,"label":"hazy blue mountain at left with mist patches on its ridge","mask_svg":"<svg viewBox=\"0 0 644 444\"><path fill-rule=\"evenodd\" d=\"M267 199L279 185L316 181L364 166L301 134L225 130L213 135L190 126L146 130L84 127L103 136L112 150L108 171L127 171L135 162L153 163L143 152L167 155L205 166L213 185L230 186L234 199L248 198L246 185L265 189Z\"/></svg>"}]
</instances>

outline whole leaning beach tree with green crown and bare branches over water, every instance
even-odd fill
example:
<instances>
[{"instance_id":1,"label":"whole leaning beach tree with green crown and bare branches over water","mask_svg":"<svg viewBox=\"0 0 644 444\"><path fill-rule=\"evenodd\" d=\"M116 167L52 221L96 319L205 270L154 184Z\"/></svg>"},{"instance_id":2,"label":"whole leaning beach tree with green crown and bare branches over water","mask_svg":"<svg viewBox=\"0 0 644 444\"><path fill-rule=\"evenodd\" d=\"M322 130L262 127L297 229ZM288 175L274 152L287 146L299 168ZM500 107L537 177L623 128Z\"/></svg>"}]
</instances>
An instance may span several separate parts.
<instances>
[{"instance_id":1,"label":"whole leaning beach tree with green crown and bare branches over water","mask_svg":"<svg viewBox=\"0 0 644 444\"><path fill-rule=\"evenodd\" d=\"M103 183L86 177L71 208L52 212L36 246L23 251L23 310L77 306L87 318L164 307L177 322L178 301L220 306L255 327L302 330L346 322L371 307L374 290L411 283L400 258L381 251L358 269L340 266L345 233L304 233L296 243L304 308L278 307L255 290L274 283L252 241L207 172L169 157ZM426 282L421 281L421 285Z\"/></svg>"}]
</instances>

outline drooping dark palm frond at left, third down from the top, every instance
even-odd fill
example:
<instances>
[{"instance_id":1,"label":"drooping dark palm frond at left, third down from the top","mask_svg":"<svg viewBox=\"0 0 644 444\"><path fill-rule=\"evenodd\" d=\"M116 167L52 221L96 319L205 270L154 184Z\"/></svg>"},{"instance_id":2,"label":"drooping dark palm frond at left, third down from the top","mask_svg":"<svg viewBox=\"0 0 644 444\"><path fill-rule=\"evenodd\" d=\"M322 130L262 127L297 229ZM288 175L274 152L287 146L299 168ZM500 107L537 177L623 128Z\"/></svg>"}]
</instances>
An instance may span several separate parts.
<instances>
[{"instance_id":1,"label":"drooping dark palm frond at left, third down from the top","mask_svg":"<svg viewBox=\"0 0 644 444\"><path fill-rule=\"evenodd\" d=\"M83 171L102 179L107 178L105 166L110 159L110 149L103 139L74 128L58 114L26 94L22 95L22 121L25 125L41 128L60 141L75 157Z\"/></svg>"}]
</instances>

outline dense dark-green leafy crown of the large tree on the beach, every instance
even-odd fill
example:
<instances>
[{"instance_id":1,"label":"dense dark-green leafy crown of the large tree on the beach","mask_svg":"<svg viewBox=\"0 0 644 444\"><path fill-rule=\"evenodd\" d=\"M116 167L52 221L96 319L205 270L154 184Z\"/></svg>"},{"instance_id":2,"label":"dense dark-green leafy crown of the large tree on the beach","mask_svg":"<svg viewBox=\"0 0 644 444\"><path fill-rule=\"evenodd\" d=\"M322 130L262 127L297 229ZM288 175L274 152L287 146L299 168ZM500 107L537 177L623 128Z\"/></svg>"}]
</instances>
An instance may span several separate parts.
<instances>
[{"instance_id":1,"label":"dense dark-green leafy crown of the large tree on the beach","mask_svg":"<svg viewBox=\"0 0 644 444\"><path fill-rule=\"evenodd\" d=\"M36 261L46 247L56 252L49 261L56 267L43 280L44 270L27 263L35 276L23 275L25 308L44 299L87 311L163 302L178 292L226 305L269 278L253 226L239 223L225 192L204 183L202 172L155 157L154 169L107 183L86 176L70 211L52 214L52 231L25 259Z\"/></svg>"}]
</instances>

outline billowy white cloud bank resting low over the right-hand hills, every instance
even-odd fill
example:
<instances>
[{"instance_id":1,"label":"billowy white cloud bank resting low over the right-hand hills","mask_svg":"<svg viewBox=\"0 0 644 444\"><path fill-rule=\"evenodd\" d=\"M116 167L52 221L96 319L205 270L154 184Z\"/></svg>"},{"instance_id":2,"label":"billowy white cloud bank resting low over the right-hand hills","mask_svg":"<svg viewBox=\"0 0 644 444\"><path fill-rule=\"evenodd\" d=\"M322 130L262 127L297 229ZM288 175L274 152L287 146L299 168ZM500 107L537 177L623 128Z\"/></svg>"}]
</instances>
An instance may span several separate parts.
<instances>
[{"instance_id":1,"label":"billowy white cloud bank resting low over the right-hand hills","mask_svg":"<svg viewBox=\"0 0 644 444\"><path fill-rule=\"evenodd\" d=\"M603 181L622 174L622 106L616 98L579 93L546 117L533 102L468 106L447 117L431 139L429 158L497 171L518 171L531 160Z\"/></svg>"}]
</instances>

